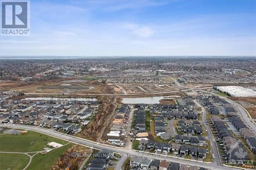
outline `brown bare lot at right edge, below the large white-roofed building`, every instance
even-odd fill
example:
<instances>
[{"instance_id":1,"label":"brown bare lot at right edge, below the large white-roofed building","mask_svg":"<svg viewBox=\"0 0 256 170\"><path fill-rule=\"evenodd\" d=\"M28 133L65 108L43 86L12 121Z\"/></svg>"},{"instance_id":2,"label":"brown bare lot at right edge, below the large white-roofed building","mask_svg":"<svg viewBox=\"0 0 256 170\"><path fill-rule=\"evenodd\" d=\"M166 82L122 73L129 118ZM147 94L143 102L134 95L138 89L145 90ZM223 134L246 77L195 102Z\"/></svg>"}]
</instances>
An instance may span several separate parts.
<instances>
[{"instance_id":1,"label":"brown bare lot at right edge, below the large white-roofed building","mask_svg":"<svg viewBox=\"0 0 256 170\"><path fill-rule=\"evenodd\" d=\"M229 98L243 106L251 115L256 118L256 98Z\"/></svg>"}]
</instances>

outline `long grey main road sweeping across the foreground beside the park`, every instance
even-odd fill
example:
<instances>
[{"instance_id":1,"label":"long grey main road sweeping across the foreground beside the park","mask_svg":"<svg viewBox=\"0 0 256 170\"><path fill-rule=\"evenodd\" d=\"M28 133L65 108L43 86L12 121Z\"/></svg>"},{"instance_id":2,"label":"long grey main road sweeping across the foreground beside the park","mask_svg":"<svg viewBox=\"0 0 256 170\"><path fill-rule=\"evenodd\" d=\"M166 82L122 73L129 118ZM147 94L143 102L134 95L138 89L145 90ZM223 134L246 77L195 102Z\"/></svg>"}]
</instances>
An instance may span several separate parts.
<instances>
[{"instance_id":1,"label":"long grey main road sweeping across the foreground beside the park","mask_svg":"<svg viewBox=\"0 0 256 170\"><path fill-rule=\"evenodd\" d=\"M118 148L118 147L113 147L111 145L106 145L106 144L102 144L102 143L97 143L94 141L90 141L87 139L82 139L82 138L78 138L75 136L71 136L71 135L67 135L67 134L62 134L59 132L55 132L49 129L45 129L45 128L39 128L39 127L33 127L33 126L26 126L26 125L10 125L10 124L0 124L0 127L2 128L17 128L17 129L26 129L26 130L32 130L32 131L37 131L40 133L44 133L44 134L48 134L60 139L64 139L64 140L68 140L71 142L75 142L78 144L82 144L85 145L87 147L90 148L95 148L95 149L109 149L112 150L114 152L120 153L123 156L142 156L142 157L147 157L150 159L159 159L159 160L167 160L169 162L177 162L177 163L181 163L181 164L186 164L189 166L200 166L200 167L204 167L207 169L215 169L215 170L230 170L230 169L237 169L235 167L226 167L226 166L220 166L220 165L216 165L213 163L204 163L204 162L200 162L200 161L196 161L196 160L186 160L186 159L182 159L182 158L175 158L175 157L170 157L170 156L165 156L165 155L159 155L159 154L150 154L150 153L146 153L146 152L141 152L141 151L133 151L133 150L127 150L125 148Z\"/></svg>"}]
</instances>

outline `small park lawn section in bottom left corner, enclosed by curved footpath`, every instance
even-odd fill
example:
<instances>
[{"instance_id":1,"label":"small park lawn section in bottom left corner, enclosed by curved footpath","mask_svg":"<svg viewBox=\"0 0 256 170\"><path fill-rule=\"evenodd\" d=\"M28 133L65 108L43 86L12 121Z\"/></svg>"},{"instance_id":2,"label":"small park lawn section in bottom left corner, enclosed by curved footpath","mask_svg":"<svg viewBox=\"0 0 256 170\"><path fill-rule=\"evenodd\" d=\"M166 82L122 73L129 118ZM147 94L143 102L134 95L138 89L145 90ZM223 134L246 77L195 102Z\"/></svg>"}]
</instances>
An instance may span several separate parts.
<instances>
[{"instance_id":1,"label":"small park lawn section in bottom left corner, enclosed by curved footpath","mask_svg":"<svg viewBox=\"0 0 256 170\"><path fill-rule=\"evenodd\" d=\"M1 169L23 169L29 163L29 157L24 154L0 153Z\"/></svg>"}]
</instances>

